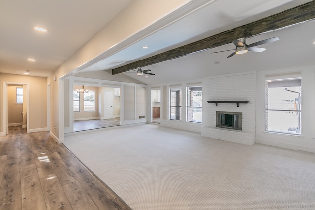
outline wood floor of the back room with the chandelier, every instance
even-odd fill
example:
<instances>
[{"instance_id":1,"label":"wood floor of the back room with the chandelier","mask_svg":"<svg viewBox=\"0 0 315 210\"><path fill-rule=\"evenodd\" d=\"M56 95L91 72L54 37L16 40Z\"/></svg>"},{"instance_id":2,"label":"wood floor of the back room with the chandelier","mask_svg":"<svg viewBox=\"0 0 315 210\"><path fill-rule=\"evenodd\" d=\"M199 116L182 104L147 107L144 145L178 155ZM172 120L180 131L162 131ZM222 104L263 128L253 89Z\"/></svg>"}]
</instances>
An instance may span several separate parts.
<instances>
[{"instance_id":1,"label":"wood floor of the back room with the chandelier","mask_svg":"<svg viewBox=\"0 0 315 210\"><path fill-rule=\"evenodd\" d=\"M73 132L83 130L93 130L97 128L113 127L120 125L120 118L104 119L104 120L76 120L73 122Z\"/></svg>"}]
</instances>

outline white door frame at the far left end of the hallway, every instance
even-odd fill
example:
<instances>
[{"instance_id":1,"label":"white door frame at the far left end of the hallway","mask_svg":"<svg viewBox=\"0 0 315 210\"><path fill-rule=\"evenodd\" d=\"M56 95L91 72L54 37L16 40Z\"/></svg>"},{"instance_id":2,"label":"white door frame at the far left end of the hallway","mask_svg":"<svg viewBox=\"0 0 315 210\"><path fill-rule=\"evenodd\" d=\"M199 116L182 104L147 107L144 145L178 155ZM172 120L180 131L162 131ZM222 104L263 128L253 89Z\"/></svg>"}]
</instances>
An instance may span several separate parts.
<instances>
[{"instance_id":1,"label":"white door frame at the far left end of the hallway","mask_svg":"<svg viewBox=\"0 0 315 210\"><path fill-rule=\"evenodd\" d=\"M19 82L3 82L3 123L2 123L2 130L4 136L8 134L8 85L26 85L26 100L27 100L27 114L26 114L26 132L30 132L30 85L29 83L19 83ZM24 94L23 94L24 95Z\"/></svg>"}]
</instances>

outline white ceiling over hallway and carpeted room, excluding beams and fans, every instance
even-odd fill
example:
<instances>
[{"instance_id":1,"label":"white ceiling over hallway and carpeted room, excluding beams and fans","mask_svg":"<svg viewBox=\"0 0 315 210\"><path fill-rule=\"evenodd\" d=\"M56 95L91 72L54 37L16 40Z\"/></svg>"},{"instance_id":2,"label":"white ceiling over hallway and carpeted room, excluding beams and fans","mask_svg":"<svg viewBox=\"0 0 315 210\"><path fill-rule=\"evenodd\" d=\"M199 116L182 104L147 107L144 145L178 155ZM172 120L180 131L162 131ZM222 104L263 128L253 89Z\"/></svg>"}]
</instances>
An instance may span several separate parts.
<instances>
[{"instance_id":1,"label":"white ceiling over hallway and carpeted room, excluding beams and fans","mask_svg":"<svg viewBox=\"0 0 315 210\"><path fill-rule=\"evenodd\" d=\"M1 1L0 72L23 74L29 69L33 76L48 76L130 1ZM161 27L154 33L136 37L136 42L115 54L97 60L83 72L110 71L112 68L253 22L308 1L310 0L208 1L211 3L191 11L172 24ZM32 29L34 25L44 25L49 32L38 33ZM261 53L249 52L228 59L226 57L233 51L212 54L215 51L234 49L235 46L230 43L143 68L151 69L155 76L140 77L134 71L124 74L145 84L160 84L228 73L315 64L312 59L315 53L315 45L312 45L315 40L314 21L258 35L249 38L247 43L275 36L280 40L261 46L267 48ZM149 48L142 49L142 46ZM27 58L31 57L37 61L27 61Z\"/></svg>"}]
</instances>

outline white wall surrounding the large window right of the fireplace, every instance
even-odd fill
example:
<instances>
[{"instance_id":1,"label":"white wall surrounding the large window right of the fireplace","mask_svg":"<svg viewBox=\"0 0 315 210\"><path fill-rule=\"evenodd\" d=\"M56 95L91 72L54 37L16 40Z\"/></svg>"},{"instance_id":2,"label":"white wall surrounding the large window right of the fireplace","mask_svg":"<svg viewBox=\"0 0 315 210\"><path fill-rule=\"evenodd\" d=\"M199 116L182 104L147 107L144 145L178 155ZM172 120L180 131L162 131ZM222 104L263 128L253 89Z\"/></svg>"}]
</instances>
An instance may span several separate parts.
<instances>
[{"instance_id":1,"label":"white wall surrounding the large window right of the fireplace","mask_svg":"<svg viewBox=\"0 0 315 210\"><path fill-rule=\"evenodd\" d=\"M271 79L302 78L301 136L265 131L265 83ZM315 66L264 71L257 74L256 142L315 152Z\"/></svg>"}]
</instances>

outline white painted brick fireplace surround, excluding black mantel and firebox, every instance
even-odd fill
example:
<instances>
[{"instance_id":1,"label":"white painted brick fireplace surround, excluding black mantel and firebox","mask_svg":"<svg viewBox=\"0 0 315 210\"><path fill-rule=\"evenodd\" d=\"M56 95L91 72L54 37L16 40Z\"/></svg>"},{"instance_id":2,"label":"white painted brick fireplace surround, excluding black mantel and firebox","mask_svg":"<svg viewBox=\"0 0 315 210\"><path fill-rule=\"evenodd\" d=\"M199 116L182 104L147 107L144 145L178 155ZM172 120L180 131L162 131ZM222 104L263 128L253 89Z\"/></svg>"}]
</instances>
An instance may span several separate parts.
<instances>
[{"instance_id":1,"label":"white painted brick fireplace surround, excluding black mantel and firebox","mask_svg":"<svg viewBox=\"0 0 315 210\"><path fill-rule=\"evenodd\" d=\"M256 127L256 74L206 78L202 86L201 135L225 141L253 145ZM249 101L248 104L215 104L207 101ZM216 128L216 111L242 112L242 131Z\"/></svg>"}]
</instances>

